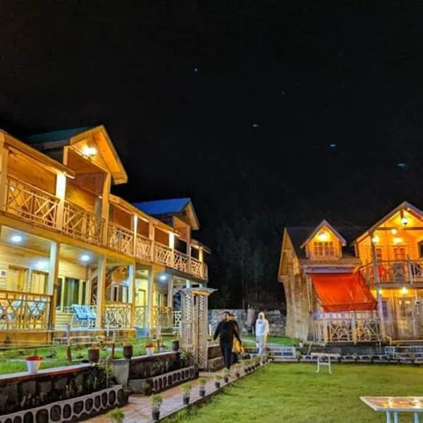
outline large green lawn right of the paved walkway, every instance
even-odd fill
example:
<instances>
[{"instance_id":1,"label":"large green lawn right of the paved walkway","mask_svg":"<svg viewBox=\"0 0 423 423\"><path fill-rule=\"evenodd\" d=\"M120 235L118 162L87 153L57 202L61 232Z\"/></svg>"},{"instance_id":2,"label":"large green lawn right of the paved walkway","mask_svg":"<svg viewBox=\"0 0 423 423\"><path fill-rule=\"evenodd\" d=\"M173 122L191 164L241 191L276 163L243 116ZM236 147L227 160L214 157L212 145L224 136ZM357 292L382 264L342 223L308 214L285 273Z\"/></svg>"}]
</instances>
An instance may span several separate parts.
<instances>
[{"instance_id":1,"label":"large green lawn right of the paved walkway","mask_svg":"<svg viewBox=\"0 0 423 423\"><path fill-rule=\"evenodd\" d=\"M216 395L209 404L180 412L166 423L386 422L360 396L423 396L423 367L334 364L270 364ZM401 415L401 422L412 422Z\"/></svg>"}]
</instances>

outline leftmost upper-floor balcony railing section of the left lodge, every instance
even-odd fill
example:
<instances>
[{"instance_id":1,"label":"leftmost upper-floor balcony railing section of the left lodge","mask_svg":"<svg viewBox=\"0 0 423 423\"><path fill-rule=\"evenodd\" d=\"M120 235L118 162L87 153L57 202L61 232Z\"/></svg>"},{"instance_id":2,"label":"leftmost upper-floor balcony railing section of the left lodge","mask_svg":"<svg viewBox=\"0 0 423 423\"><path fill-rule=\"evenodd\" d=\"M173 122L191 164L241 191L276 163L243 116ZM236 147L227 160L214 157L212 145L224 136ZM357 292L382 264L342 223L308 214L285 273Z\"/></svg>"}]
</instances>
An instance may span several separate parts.
<instances>
[{"instance_id":1,"label":"leftmost upper-floor balcony railing section of the left lodge","mask_svg":"<svg viewBox=\"0 0 423 423\"><path fill-rule=\"evenodd\" d=\"M7 178L6 212L31 222L55 227L59 199L49 192L14 178Z\"/></svg>"}]
</instances>

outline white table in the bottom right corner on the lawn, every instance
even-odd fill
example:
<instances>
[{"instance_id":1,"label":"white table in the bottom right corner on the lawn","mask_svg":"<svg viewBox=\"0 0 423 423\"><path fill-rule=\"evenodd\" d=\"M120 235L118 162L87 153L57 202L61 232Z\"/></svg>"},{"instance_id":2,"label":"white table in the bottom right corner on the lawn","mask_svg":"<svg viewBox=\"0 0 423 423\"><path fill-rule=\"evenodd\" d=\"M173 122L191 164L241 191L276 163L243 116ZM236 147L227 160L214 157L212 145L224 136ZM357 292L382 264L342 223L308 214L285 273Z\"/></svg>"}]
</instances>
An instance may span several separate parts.
<instances>
[{"instance_id":1,"label":"white table in the bottom right corner on the lawn","mask_svg":"<svg viewBox=\"0 0 423 423\"><path fill-rule=\"evenodd\" d=\"M386 414L386 423L399 423L400 412L412 412L413 422L419 423L423 413L423 397L360 397L360 400L374 411ZM393 416L393 420L392 420Z\"/></svg>"}]
</instances>

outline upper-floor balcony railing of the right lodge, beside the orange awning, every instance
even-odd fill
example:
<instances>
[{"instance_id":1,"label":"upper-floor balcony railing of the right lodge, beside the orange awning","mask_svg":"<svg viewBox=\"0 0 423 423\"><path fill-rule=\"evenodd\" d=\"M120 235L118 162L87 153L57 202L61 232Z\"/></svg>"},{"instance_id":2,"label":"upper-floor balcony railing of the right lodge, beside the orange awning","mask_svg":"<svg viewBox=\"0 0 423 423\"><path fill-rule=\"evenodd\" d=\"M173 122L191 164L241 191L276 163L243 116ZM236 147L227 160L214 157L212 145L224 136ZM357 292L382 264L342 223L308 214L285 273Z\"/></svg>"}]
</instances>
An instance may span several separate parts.
<instances>
[{"instance_id":1,"label":"upper-floor balcony railing of the right lodge, beside the orange awning","mask_svg":"<svg viewBox=\"0 0 423 423\"><path fill-rule=\"evenodd\" d=\"M392 286L418 283L423 286L423 260L382 260L377 262L379 282ZM360 273L370 288L376 285L374 264L365 264Z\"/></svg>"}]
</instances>

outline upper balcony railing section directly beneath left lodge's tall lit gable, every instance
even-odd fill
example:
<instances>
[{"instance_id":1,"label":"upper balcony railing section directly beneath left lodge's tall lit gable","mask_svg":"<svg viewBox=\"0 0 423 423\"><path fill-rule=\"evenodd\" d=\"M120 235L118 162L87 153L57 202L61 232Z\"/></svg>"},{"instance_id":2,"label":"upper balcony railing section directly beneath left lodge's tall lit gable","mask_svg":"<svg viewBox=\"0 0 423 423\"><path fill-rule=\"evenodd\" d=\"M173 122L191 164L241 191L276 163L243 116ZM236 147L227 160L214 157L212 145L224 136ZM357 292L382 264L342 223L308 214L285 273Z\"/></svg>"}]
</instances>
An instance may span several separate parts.
<instances>
[{"instance_id":1,"label":"upper balcony railing section directly beneath left lodge's tall lit gable","mask_svg":"<svg viewBox=\"0 0 423 423\"><path fill-rule=\"evenodd\" d=\"M104 219L65 201L63 232L88 243L101 244Z\"/></svg>"}]
</instances>

